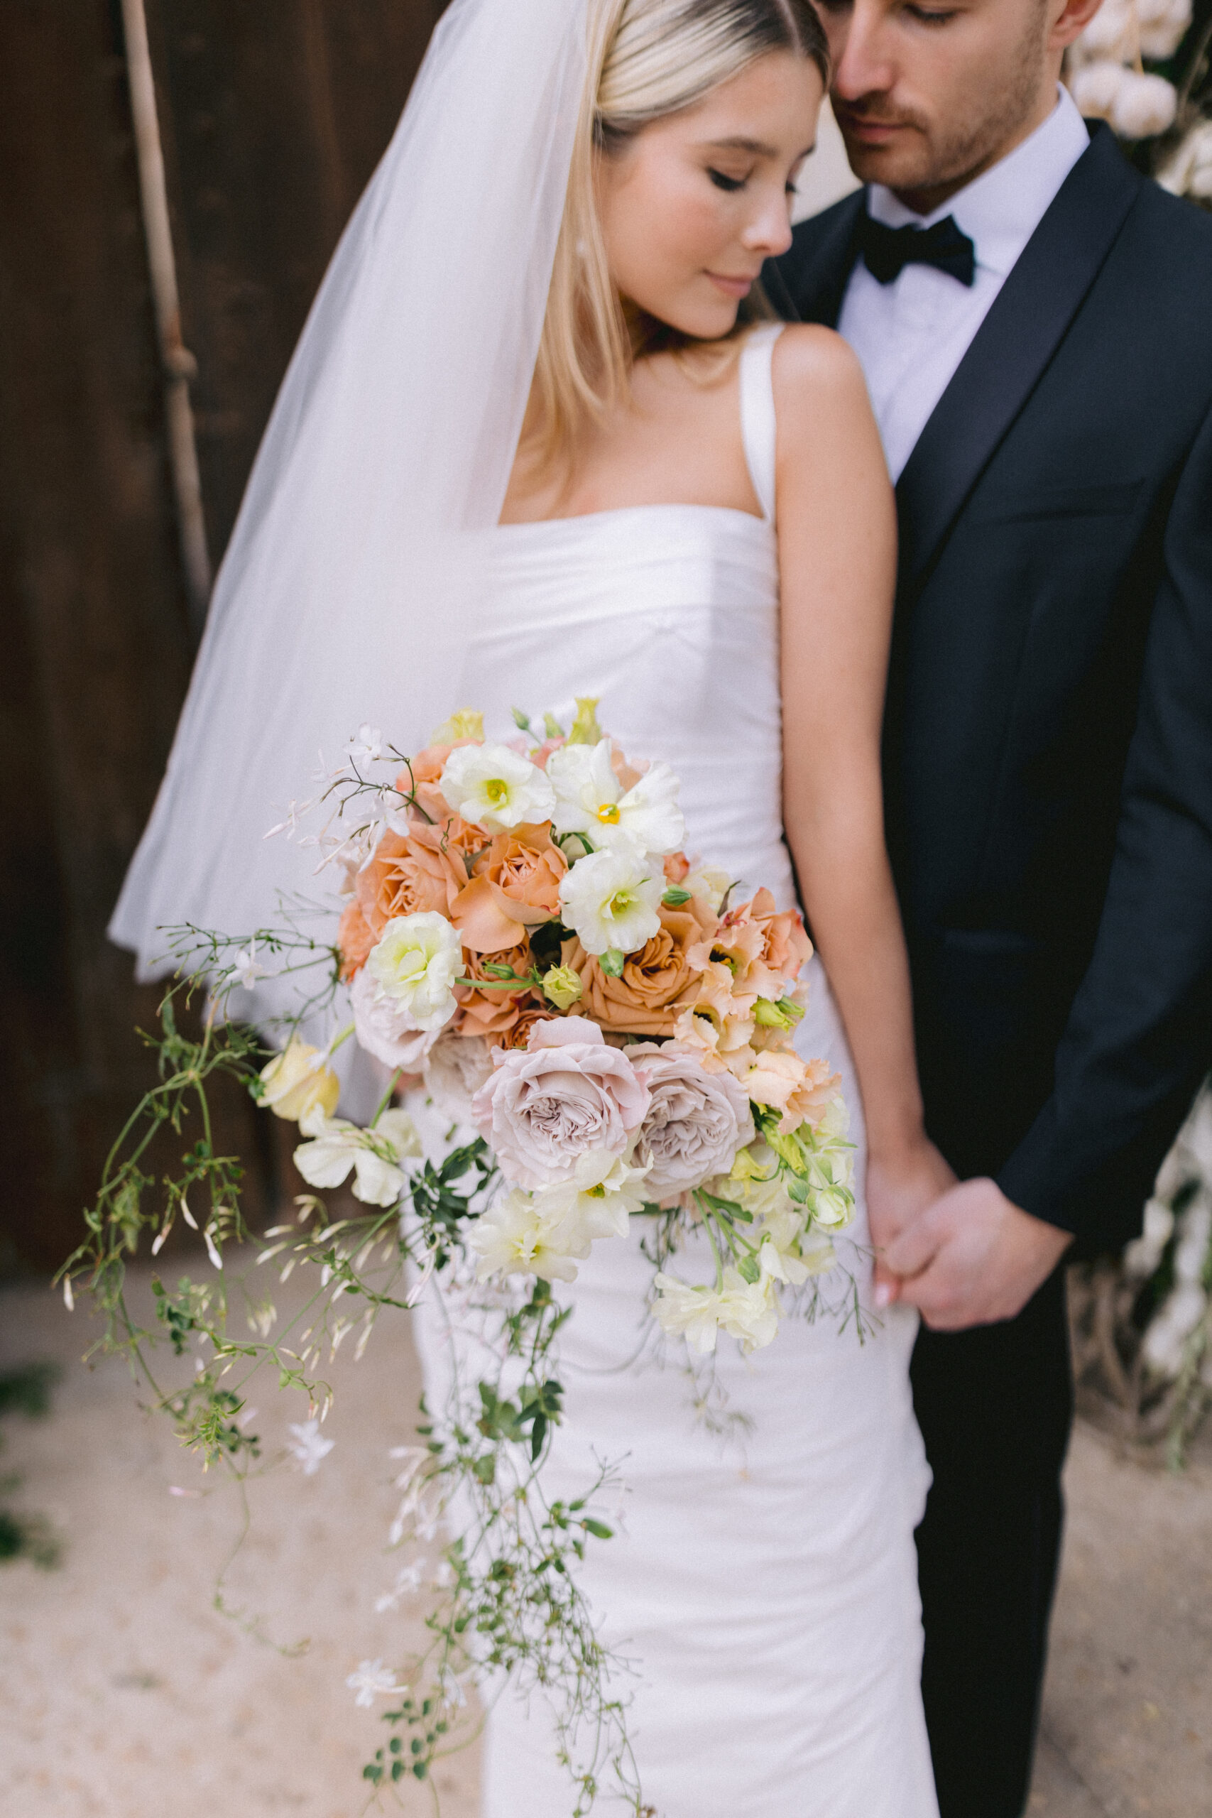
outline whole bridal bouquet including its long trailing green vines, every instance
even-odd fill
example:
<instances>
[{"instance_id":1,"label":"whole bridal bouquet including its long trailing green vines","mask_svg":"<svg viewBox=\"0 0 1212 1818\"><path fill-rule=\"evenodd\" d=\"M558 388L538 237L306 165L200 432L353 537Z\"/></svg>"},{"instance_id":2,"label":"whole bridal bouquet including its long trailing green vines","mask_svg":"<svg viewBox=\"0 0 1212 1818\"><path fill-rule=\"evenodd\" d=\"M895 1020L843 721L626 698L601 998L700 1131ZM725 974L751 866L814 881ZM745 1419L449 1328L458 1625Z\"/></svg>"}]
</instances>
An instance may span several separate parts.
<instances>
[{"instance_id":1,"label":"whole bridal bouquet including its long trailing green vines","mask_svg":"<svg viewBox=\"0 0 1212 1818\"><path fill-rule=\"evenodd\" d=\"M839 1078L792 1045L810 956L800 914L765 889L736 902L725 873L685 856L678 778L663 762L631 764L596 702L578 702L567 733L551 716L541 736L514 718L516 736L491 742L478 713L458 713L412 758L362 727L320 796L291 805L273 831L316 847L316 869L342 880L338 925L336 907L283 904L253 934L169 931L178 978L154 1042L160 1082L114 1144L64 1294L71 1305L73 1280L87 1282L109 1342L144 1367L182 1440L240 1474L260 1445L247 1385L271 1364L283 1389L307 1393L311 1420L291 1431L311 1471L331 1449L318 1431L323 1351L360 1324L360 1356L380 1313L416 1305L436 1273L480 1322L489 1362L447 1407L425 1409L423 1443L402 1454L392 1545L440 1523L452 1538L429 1585L427 1651L403 1680L378 1660L351 1678L360 1703L398 1698L385 1716L409 1736L407 1751L398 1734L376 1751L365 1776L425 1778L462 1678L503 1671L554 1702L576 1811L592 1803L603 1758L640 1811L623 1702L576 1585L587 1540L611 1536L594 1513L611 1467L572 1502L541 1483L569 1284L594 1244L640 1227L652 1316L685 1338L690 1369L710 1367L720 1333L743 1351L767 1345L789 1304L818 1309L854 1213L850 1147ZM302 833L316 811L322 829ZM307 927L316 913L320 936ZM263 1016L258 1029L240 1022L236 993L274 980L280 1002L294 974L298 1009L265 1058ZM174 1014L193 991L209 1002L198 1040ZM322 1027L327 1038L309 1040ZM362 1124L336 1114L331 1060L347 1040L383 1074ZM291 1318L245 1296L253 1338L227 1289L225 1249L247 1233L240 1165L211 1140L207 1084L220 1074L298 1124L294 1162L316 1189L294 1224L265 1233L258 1265L276 1260L282 1282L313 1265L318 1289ZM409 1105L420 1116L423 1102L443 1118L445 1153L422 1153ZM185 1134L194 1114L196 1140L156 1180L153 1138ZM353 1205L334 1218L318 1194L351 1176ZM153 1284L173 1351L193 1356L187 1383L165 1391L122 1284L144 1231L154 1256L178 1214L202 1233L213 1278ZM678 1253L703 1236L714 1280L687 1282ZM861 1320L852 1282L849 1313ZM420 1589L420 1569L402 1571L383 1607Z\"/></svg>"}]
</instances>

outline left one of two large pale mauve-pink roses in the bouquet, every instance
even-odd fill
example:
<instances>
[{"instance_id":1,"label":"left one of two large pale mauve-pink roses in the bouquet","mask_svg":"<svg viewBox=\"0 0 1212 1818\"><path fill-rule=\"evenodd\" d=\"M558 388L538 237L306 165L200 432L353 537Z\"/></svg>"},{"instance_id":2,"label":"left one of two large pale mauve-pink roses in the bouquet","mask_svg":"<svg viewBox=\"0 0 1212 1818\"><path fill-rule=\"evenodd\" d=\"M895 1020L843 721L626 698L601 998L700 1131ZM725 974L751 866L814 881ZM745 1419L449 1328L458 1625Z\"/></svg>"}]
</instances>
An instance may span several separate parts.
<instances>
[{"instance_id":1,"label":"left one of two large pale mauve-pink roses in the bouquet","mask_svg":"<svg viewBox=\"0 0 1212 1818\"><path fill-rule=\"evenodd\" d=\"M571 1180L589 1149L625 1154L649 1111L643 1074L585 1016L536 1022L525 1049L498 1049L492 1060L471 1111L522 1187Z\"/></svg>"}]
</instances>

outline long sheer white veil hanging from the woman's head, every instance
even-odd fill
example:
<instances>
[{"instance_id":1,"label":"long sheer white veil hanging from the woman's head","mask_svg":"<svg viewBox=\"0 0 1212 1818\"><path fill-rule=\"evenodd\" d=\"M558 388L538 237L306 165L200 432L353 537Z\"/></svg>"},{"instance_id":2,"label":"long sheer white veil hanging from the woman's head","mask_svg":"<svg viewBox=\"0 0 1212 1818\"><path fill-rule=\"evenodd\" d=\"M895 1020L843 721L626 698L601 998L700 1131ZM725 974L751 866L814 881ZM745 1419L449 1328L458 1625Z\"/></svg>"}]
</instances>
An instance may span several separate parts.
<instances>
[{"instance_id":1,"label":"long sheer white veil hanging from the woman's head","mask_svg":"<svg viewBox=\"0 0 1212 1818\"><path fill-rule=\"evenodd\" d=\"M454 707L538 355L587 0L454 0L282 384L167 774L109 934L231 934L314 893L265 840L362 722L416 749Z\"/></svg>"}]
</instances>

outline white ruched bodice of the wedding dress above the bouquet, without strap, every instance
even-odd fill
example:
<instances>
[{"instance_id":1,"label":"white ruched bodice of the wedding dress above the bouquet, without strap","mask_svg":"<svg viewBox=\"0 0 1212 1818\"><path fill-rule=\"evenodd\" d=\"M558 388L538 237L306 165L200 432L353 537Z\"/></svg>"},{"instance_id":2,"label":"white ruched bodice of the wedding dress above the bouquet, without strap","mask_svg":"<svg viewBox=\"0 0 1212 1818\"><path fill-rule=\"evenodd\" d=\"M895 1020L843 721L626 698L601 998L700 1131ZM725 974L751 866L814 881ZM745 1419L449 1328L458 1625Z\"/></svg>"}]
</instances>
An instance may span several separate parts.
<instances>
[{"instance_id":1,"label":"white ruched bodice of the wedding dress above the bouquet, without strap","mask_svg":"<svg viewBox=\"0 0 1212 1818\"><path fill-rule=\"evenodd\" d=\"M714 505L511 524L487 574L462 698L492 727L598 696L629 758L678 771L689 851L789 907L772 525Z\"/></svg>"}]
</instances>

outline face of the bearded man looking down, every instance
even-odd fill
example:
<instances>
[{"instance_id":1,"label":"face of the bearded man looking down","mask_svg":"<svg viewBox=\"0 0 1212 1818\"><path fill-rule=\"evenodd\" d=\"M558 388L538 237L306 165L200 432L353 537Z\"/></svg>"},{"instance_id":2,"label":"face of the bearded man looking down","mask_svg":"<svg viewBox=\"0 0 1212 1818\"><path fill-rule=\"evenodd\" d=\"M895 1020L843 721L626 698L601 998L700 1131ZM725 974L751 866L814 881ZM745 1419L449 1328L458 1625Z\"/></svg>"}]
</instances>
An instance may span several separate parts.
<instances>
[{"instance_id":1,"label":"face of the bearded man looking down","mask_svg":"<svg viewBox=\"0 0 1212 1818\"><path fill-rule=\"evenodd\" d=\"M821 0L854 173L929 213L1039 125L1098 0Z\"/></svg>"}]
</instances>

